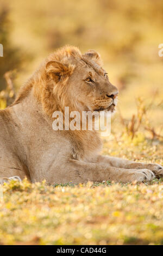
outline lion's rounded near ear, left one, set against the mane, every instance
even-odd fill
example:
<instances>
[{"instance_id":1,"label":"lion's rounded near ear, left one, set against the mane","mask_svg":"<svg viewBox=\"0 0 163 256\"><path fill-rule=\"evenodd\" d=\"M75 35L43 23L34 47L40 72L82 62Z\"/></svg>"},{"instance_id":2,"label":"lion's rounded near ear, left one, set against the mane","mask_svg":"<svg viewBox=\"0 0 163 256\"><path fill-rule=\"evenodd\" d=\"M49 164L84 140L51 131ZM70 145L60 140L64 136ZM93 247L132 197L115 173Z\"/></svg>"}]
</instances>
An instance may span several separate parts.
<instances>
[{"instance_id":1,"label":"lion's rounded near ear, left one, set against the mane","mask_svg":"<svg viewBox=\"0 0 163 256\"><path fill-rule=\"evenodd\" d=\"M70 76L73 69L73 65L63 64L57 60L53 60L46 64L47 75L50 76L56 83L58 83L61 79L63 80L64 78Z\"/></svg>"}]
</instances>

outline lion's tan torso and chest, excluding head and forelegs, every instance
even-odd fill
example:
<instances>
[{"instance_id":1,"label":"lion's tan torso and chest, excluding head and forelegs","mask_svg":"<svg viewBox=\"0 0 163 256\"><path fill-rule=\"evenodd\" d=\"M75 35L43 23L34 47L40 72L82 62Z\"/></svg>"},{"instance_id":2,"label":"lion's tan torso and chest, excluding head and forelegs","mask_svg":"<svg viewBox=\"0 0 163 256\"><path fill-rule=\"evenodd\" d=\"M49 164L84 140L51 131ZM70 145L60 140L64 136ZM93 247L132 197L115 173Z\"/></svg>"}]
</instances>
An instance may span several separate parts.
<instances>
[{"instance_id":1,"label":"lion's tan torso and chest, excluding head and forelegs","mask_svg":"<svg viewBox=\"0 0 163 256\"><path fill-rule=\"evenodd\" d=\"M82 138L77 134L73 139L69 132L54 131L31 93L20 104L0 111L0 120L0 177L67 182L74 180L66 167L68 159L76 155L75 159L91 161L101 150L95 132L83 131Z\"/></svg>"}]
</instances>

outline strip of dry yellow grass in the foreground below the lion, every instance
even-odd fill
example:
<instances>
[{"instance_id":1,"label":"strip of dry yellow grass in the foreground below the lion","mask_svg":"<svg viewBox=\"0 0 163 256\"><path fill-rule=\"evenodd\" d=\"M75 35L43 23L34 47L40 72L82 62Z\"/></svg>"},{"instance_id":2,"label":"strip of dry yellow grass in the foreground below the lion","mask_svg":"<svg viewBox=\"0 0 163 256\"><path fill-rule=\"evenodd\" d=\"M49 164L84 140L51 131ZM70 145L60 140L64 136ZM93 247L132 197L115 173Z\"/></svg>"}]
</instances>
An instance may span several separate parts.
<instances>
[{"instance_id":1,"label":"strip of dry yellow grass in the foreground below the lion","mask_svg":"<svg viewBox=\"0 0 163 256\"><path fill-rule=\"evenodd\" d=\"M161 245L162 181L55 187L11 181L3 185L0 243Z\"/></svg>"}]
</instances>

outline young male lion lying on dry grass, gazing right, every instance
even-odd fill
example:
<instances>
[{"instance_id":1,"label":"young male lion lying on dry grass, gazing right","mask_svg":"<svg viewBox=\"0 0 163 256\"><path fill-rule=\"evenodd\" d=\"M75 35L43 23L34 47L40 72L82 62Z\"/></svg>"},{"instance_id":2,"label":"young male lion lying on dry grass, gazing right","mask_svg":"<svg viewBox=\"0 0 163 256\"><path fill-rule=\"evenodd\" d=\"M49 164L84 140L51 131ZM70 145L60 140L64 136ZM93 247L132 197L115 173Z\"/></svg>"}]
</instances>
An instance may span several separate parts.
<instances>
[{"instance_id":1,"label":"young male lion lying on dry grass, gazing right","mask_svg":"<svg viewBox=\"0 0 163 256\"><path fill-rule=\"evenodd\" d=\"M32 182L138 182L163 174L159 164L99 155L95 130L52 129L52 114L70 111L113 112L117 88L96 51L82 55L66 46L52 53L21 88L15 102L0 111L0 177L27 176Z\"/></svg>"}]
</instances>

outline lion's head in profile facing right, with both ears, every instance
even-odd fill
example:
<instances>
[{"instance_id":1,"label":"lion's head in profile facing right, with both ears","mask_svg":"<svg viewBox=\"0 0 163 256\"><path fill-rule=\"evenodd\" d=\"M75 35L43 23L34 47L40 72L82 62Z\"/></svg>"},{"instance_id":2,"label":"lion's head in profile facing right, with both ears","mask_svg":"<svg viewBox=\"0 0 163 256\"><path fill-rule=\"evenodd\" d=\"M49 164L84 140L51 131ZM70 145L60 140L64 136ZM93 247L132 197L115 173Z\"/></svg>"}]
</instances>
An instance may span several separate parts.
<instances>
[{"instance_id":1,"label":"lion's head in profile facing right, with both ears","mask_svg":"<svg viewBox=\"0 0 163 256\"><path fill-rule=\"evenodd\" d=\"M48 57L45 72L50 99L54 96L59 108L69 106L78 111L114 111L118 91L109 82L96 51L82 54L77 47L63 47ZM48 102L47 86L45 89Z\"/></svg>"}]
</instances>

